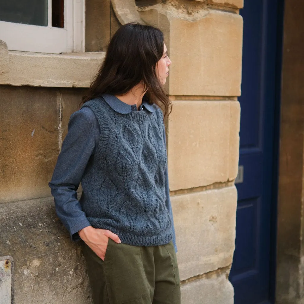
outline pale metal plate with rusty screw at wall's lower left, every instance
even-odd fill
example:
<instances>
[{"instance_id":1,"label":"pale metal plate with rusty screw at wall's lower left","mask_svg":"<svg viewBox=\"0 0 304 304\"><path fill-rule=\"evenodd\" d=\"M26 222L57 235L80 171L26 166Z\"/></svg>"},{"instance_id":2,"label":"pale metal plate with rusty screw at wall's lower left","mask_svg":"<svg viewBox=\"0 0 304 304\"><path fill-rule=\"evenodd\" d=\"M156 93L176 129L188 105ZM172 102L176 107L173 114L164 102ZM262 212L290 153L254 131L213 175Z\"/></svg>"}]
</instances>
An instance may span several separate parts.
<instances>
[{"instance_id":1,"label":"pale metal plate with rusty screw at wall's lower left","mask_svg":"<svg viewBox=\"0 0 304 304\"><path fill-rule=\"evenodd\" d=\"M0 304L12 303L12 268L11 256L0 257Z\"/></svg>"}]
</instances>

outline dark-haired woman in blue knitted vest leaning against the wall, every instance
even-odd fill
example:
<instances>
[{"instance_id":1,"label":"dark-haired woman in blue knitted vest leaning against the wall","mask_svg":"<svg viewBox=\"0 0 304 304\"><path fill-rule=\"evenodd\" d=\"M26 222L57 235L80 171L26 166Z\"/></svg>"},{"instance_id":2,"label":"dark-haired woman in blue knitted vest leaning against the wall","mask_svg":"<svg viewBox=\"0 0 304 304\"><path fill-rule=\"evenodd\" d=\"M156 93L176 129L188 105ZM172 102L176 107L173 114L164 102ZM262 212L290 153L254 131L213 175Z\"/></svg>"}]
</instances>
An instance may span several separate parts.
<instances>
[{"instance_id":1,"label":"dark-haired woman in blue knitted vest leaning against the wall","mask_svg":"<svg viewBox=\"0 0 304 304\"><path fill-rule=\"evenodd\" d=\"M159 29L120 27L49 184L58 217L83 241L94 304L180 303L160 109L171 112L170 64Z\"/></svg>"}]
</instances>

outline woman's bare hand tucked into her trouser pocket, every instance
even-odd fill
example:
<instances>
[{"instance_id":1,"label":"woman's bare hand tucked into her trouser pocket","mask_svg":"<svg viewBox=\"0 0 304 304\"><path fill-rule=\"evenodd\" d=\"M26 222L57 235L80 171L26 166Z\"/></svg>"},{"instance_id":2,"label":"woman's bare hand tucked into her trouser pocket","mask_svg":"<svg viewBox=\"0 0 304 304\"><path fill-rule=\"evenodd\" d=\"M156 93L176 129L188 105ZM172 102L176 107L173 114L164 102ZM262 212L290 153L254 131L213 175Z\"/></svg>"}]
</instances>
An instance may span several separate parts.
<instances>
[{"instance_id":1,"label":"woman's bare hand tucked into her trouser pocket","mask_svg":"<svg viewBox=\"0 0 304 304\"><path fill-rule=\"evenodd\" d=\"M109 238L116 243L121 243L117 234L109 230L95 229L92 226L85 227L78 231L78 234L94 252L104 261L105 252L108 247Z\"/></svg>"}]
</instances>

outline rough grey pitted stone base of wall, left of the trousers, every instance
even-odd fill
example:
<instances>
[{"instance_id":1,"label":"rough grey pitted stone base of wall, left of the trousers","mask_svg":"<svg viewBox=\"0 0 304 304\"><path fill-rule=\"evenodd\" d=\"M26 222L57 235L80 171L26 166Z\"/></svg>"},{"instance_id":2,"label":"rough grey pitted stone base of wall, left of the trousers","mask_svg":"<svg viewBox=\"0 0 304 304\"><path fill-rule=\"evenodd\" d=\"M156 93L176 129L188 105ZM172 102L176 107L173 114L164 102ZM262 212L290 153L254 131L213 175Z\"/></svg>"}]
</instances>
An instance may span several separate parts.
<instances>
[{"instance_id":1,"label":"rough grey pitted stone base of wall, left of the trousers","mask_svg":"<svg viewBox=\"0 0 304 304\"><path fill-rule=\"evenodd\" d=\"M15 304L90 304L85 261L52 198L0 205L0 256L14 258Z\"/></svg>"}]
</instances>

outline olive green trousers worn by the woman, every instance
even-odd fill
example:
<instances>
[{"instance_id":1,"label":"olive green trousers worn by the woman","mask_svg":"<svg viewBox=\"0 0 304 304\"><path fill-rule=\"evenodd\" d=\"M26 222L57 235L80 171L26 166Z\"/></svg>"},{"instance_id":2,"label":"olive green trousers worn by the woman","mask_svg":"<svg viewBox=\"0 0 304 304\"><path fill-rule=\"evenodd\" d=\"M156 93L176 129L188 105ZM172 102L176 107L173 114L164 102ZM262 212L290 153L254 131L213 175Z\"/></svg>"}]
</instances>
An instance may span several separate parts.
<instances>
[{"instance_id":1,"label":"olive green trousers worn by the woman","mask_svg":"<svg viewBox=\"0 0 304 304\"><path fill-rule=\"evenodd\" d=\"M94 304L180 304L172 242L141 247L109 239L104 261L81 243Z\"/></svg>"}]
</instances>

